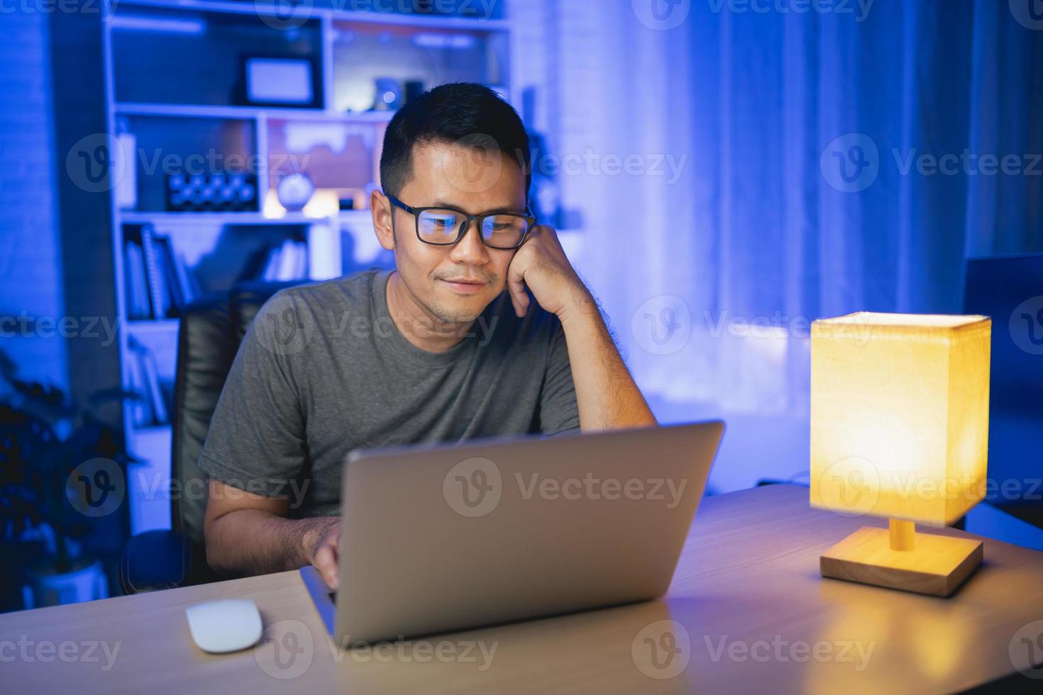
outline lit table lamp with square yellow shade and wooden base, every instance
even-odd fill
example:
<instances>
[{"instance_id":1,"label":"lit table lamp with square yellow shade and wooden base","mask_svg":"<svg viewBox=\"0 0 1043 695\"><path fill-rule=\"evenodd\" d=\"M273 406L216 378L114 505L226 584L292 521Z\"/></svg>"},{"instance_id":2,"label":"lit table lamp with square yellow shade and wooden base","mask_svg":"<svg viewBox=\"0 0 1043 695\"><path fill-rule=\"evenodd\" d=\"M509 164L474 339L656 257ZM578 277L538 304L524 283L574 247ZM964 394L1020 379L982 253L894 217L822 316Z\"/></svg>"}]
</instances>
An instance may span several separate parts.
<instances>
[{"instance_id":1,"label":"lit table lamp with square yellow shade and wooden base","mask_svg":"<svg viewBox=\"0 0 1043 695\"><path fill-rule=\"evenodd\" d=\"M860 312L811 325L811 506L889 519L820 557L824 577L949 596L981 542L948 526L985 496L992 322Z\"/></svg>"}]
</instances>

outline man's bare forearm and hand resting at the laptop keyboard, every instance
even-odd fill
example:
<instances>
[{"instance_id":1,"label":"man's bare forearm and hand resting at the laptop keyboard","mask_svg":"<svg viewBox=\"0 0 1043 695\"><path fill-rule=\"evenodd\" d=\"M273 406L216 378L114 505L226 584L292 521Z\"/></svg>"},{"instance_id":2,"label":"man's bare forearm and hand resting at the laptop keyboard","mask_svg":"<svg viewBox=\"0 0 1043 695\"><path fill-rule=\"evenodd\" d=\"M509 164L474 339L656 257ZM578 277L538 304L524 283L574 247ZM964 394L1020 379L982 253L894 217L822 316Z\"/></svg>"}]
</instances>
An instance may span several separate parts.
<instances>
[{"instance_id":1,"label":"man's bare forearm and hand resting at the laptop keyboard","mask_svg":"<svg viewBox=\"0 0 1043 695\"><path fill-rule=\"evenodd\" d=\"M339 517L287 519L286 497L262 497L211 478L203 533L219 572L267 574L315 565L337 589Z\"/></svg>"}]
</instances>

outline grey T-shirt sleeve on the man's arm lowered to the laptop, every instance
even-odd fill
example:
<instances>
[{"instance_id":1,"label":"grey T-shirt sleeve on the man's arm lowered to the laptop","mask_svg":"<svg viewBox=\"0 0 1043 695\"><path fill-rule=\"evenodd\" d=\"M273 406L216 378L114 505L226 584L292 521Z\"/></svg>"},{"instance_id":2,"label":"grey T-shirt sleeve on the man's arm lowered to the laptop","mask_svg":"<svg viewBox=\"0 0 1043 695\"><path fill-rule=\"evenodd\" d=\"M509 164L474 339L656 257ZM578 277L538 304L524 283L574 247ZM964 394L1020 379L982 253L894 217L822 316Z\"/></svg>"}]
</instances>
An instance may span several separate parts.
<instances>
[{"instance_id":1,"label":"grey T-shirt sleeve on the man's arm lowered to the laptop","mask_svg":"<svg viewBox=\"0 0 1043 695\"><path fill-rule=\"evenodd\" d=\"M268 300L250 324L199 456L199 468L211 477L277 497L288 494L289 481L304 473L305 418L293 365L302 345L301 329L309 323L301 313L309 311L284 291Z\"/></svg>"}]
</instances>

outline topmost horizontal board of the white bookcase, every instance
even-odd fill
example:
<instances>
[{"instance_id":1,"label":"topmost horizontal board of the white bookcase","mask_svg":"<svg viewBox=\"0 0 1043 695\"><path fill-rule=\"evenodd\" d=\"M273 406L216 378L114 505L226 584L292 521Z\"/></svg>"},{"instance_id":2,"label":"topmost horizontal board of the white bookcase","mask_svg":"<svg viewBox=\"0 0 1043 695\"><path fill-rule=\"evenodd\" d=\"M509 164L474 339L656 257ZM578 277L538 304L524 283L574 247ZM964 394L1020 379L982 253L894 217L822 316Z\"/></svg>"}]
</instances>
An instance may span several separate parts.
<instances>
[{"instance_id":1,"label":"topmost horizontal board of the white bookcase","mask_svg":"<svg viewBox=\"0 0 1043 695\"><path fill-rule=\"evenodd\" d=\"M343 3L347 4L347 3ZM165 9L192 9L198 11L226 13L229 15L262 15L285 20L271 6L259 2L227 2L225 0L121 0L120 7L160 7ZM308 19L330 17L338 21L364 22L368 24L394 24L397 26L420 27L425 29L470 29L475 31L504 31L509 22L502 19L481 19L445 15L398 15L395 13L357 11L309 5Z\"/></svg>"}]
</instances>

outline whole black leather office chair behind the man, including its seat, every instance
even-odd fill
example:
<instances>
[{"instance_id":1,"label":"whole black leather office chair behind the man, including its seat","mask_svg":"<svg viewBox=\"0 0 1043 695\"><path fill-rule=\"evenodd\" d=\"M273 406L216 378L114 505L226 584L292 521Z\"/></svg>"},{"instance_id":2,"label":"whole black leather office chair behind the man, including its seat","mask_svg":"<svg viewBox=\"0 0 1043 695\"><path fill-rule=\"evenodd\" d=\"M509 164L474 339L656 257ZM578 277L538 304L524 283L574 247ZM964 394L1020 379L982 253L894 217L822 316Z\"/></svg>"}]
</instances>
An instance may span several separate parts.
<instances>
[{"instance_id":1,"label":"whole black leather office chair behind the man, including its seat","mask_svg":"<svg viewBox=\"0 0 1043 695\"><path fill-rule=\"evenodd\" d=\"M181 313L174 377L170 530L130 538L120 562L124 594L220 578L207 564L202 520L207 475L196 466L210 420L246 329L276 292L298 282L237 284L227 296L200 299Z\"/></svg>"}]
</instances>

